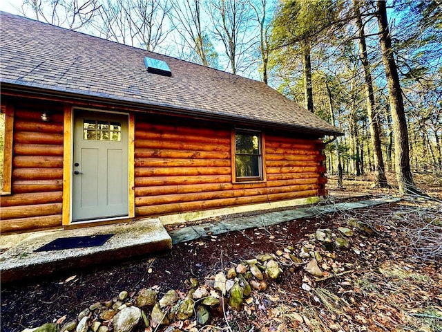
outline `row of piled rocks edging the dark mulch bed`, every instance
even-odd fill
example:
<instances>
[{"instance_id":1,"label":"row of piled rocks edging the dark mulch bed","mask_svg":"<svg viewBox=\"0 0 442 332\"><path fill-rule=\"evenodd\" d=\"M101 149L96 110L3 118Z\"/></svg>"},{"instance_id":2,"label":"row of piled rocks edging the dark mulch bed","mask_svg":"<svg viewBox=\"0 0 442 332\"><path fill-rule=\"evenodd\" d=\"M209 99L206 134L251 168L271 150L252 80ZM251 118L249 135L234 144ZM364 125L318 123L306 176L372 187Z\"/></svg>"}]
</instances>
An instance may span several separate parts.
<instances>
[{"instance_id":1,"label":"row of piled rocks edging the dark mulch bed","mask_svg":"<svg viewBox=\"0 0 442 332\"><path fill-rule=\"evenodd\" d=\"M349 227L362 230L356 224ZM189 279L186 292L169 290L160 296L158 287L137 293L122 291L113 299L91 304L76 320L59 320L23 332L153 332L160 326L167 332L198 331L197 326L210 324L213 317L222 317L229 308L240 311L251 304L253 292L265 291L269 281L280 277L282 267L285 272L295 273L303 266L305 273L316 280L342 273L344 268L334 261L334 250L350 248L352 235L349 228L318 229L298 243L298 248L287 246L274 254L256 255L220 270L204 282ZM306 275L303 281L301 288L309 291L311 279Z\"/></svg>"}]
</instances>

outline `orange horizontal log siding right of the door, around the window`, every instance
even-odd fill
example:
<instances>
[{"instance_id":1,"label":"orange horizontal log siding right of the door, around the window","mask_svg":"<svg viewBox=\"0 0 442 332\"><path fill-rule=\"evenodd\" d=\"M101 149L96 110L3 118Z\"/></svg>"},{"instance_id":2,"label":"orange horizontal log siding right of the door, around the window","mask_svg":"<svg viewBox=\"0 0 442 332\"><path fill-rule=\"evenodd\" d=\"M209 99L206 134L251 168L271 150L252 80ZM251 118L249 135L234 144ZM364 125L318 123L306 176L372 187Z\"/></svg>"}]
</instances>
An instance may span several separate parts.
<instances>
[{"instance_id":1,"label":"orange horizontal log siding right of the door, around the window","mask_svg":"<svg viewBox=\"0 0 442 332\"><path fill-rule=\"evenodd\" d=\"M137 217L316 196L316 141L266 136L267 181L232 183L229 129L135 120Z\"/></svg>"}]
</instances>

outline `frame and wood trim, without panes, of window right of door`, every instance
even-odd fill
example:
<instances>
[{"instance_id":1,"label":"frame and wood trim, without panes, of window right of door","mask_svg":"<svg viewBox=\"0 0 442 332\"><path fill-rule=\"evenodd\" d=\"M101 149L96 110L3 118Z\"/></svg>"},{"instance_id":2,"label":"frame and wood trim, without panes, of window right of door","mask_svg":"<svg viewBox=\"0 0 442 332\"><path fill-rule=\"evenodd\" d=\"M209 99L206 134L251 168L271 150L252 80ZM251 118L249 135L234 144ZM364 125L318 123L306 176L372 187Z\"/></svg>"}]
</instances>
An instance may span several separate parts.
<instances>
[{"instance_id":1,"label":"frame and wood trim, without panes, of window right of door","mask_svg":"<svg viewBox=\"0 0 442 332\"><path fill-rule=\"evenodd\" d=\"M236 136L250 135L258 136L258 154L238 153L236 150ZM258 176L237 176L236 160L237 156L258 156ZM232 129L231 131L231 168L232 183L262 183L267 181L265 169L265 136L262 131L251 129Z\"/></svg>"}]
</instances>

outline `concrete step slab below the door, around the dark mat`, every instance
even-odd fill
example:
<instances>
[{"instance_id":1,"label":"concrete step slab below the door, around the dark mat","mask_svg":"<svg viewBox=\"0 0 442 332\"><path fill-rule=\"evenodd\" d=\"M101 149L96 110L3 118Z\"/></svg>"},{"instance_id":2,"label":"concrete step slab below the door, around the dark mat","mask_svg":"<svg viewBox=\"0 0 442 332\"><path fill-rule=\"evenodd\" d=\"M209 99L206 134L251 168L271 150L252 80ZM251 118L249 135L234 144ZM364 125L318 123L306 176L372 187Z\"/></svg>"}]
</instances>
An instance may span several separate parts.
<instances>
[{"instance_id":1,"label":"concrete step slab below the door, around the dark mat","mask_svg":"<svg viewBox=\"0 0 442 332\"><path fill-rule=\"evenodd\" d=\"M114 234L102 246L35 252L61 237ZM159 219L100 225L75 230L52 230L19 235L2 235L6 249L0 255L1 283L50 275L56 271L84 268L93 264L162 252L172 248L172 239ZM5 250L5 249L3 249Z\"/></svg>"}]
</instances>

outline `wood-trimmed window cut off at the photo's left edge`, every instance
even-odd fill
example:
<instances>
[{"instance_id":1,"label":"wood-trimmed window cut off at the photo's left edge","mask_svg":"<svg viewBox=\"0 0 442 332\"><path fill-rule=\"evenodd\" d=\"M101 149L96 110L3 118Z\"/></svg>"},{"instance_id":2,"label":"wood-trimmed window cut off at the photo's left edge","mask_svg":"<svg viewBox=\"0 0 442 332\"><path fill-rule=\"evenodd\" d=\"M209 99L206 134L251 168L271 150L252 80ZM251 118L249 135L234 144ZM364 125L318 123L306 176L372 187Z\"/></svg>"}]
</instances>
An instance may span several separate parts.
<instances>
[{"instance_id":1,"label":"wood-trimmed window cut off at the photo's left edge","mask_svg":"<svg viewBox=\"0 0 442 332\"><path fill-rule=\"evenodd\" d=\"M12 107L0 107L0 194L11 193L12 174L12 126L14 113Z\"/></svg>"}]
</instances>

